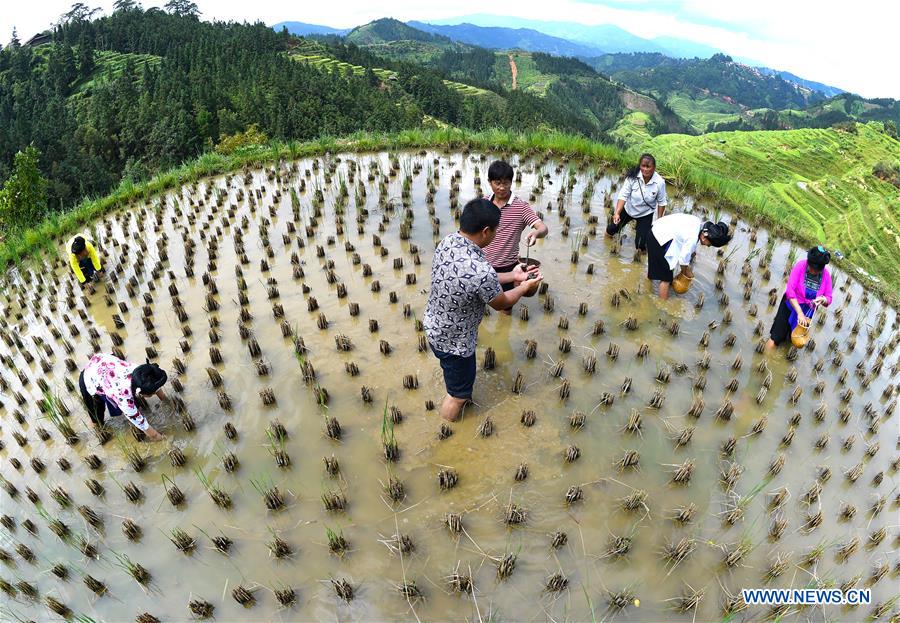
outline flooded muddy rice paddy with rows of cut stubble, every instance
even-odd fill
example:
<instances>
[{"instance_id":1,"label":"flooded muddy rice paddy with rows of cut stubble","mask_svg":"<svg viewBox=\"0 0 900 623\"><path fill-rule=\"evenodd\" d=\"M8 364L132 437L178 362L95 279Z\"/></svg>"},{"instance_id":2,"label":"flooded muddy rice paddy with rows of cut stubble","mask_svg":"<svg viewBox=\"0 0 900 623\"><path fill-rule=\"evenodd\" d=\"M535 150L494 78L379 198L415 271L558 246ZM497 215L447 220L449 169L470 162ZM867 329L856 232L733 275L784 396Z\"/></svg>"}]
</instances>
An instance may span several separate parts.
<instances>
[{"instance_id":1,"label":"flooded muddy rice paddy with rows of cut stubble","mask_svg":"<svg viewBox=\"0 0 900 623\"><path fill-rule=\"evenodd\" d=\"M532 250L546 290L485 318L477 404L441 424L431 255L489 161L238 172L94 224L110 276L92 296L62 260L12 275L3 617L896 616L896 311L835 270L809 347L761 354L794 255L734 216L662 302L633 229L603 237L617 173L513 158L550 227ZM88 429L94 351L169 371L173 399L149 405L165 442ZM873 603L744 607L755 586Z\"/></svg>"}]
</instances>

